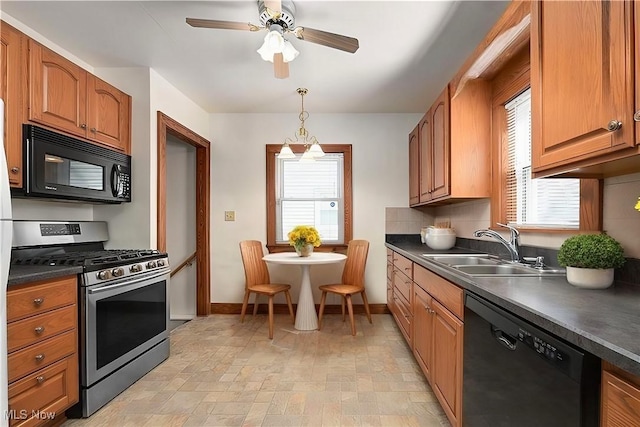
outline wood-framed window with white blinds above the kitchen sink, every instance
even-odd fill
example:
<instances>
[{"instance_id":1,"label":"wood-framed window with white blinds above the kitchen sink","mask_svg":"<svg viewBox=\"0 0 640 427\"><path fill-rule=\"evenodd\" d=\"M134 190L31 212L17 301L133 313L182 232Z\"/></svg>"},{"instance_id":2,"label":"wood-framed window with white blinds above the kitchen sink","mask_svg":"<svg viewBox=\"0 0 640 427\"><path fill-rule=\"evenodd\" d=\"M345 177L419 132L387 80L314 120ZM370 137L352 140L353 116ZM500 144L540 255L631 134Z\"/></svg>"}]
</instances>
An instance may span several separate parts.
<instances>
[{"instance_id":1,"label":"wood-framed window with white blinds above the kitchen sink","mask_svg":"<svg viewBox=\"0 0 640 427\"><path fill-rule=\"evenodd\" d=\"M492 80L493 190L491 225L521 231L602 230L602 180L531 178L528 46ZM535 98L534 98L535 100Z\"/></svg>"}]
</instances>

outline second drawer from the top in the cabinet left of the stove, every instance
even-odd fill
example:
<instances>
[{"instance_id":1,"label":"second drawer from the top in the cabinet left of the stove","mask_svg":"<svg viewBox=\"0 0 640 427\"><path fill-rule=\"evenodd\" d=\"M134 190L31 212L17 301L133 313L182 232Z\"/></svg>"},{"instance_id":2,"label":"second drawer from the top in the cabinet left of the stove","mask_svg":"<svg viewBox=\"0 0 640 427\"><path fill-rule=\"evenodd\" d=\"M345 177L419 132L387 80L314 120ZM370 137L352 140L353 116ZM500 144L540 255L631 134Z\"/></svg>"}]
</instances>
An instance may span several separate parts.
<instances>
[{"instance_id":1,"label":"second drawer from the top in the cabinet left of the stove","mask_svg":"<svg viewBox=\"0 0 640 427\"><path fill-rule=\"evenodd\" d=\"M78 318L75 305L28 317L7 326L9 353L39 343L61 332L74 329ZM39 332L40 331L40 332Z\"/></svg>"}]
</instances>

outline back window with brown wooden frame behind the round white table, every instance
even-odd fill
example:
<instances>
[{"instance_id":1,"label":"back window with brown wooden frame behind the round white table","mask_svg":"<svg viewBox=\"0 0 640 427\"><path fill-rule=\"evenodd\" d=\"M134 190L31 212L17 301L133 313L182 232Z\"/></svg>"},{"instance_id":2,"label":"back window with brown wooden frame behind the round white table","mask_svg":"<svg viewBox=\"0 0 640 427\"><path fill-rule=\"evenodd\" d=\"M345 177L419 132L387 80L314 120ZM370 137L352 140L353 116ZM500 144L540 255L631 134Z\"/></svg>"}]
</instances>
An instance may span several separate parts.
<instances>
[{"instance_id":1,"label":"back window with brown wooden frame behind the round white table","mask_svg":"<svg viewBox=\"0 0 640 427\"><path fill-rule=\"evenodd\" d=\"M351 240L351 146L323 144L326 155L300 162L302 146L291 146L295 159L278 159L280 145L267 145L267 247L288 250L287 233L313 225L323 249L343 249ZM322 250L322 249L321 249Z\"/></svg>"}]
</instances>

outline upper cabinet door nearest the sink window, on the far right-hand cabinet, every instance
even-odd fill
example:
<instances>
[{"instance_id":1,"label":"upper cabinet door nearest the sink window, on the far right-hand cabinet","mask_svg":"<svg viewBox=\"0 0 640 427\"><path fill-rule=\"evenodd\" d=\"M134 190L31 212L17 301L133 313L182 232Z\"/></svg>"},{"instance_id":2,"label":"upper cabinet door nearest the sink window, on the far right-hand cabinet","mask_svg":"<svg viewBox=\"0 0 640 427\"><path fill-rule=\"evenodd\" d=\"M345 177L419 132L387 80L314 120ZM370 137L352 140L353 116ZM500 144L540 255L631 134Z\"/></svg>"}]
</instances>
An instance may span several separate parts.
<instances>
[{"instance_id":1,"label":"upper cabinet door nearest the sink window, on the far right-hand cabinet","mask_svg":"<svg viewBox=\"0 0 640 427\"><path fill-rule=\"evenodd\" d=\"M449 191L449 87L431 106L431 199Z\"/></svg>"}]
</instances>

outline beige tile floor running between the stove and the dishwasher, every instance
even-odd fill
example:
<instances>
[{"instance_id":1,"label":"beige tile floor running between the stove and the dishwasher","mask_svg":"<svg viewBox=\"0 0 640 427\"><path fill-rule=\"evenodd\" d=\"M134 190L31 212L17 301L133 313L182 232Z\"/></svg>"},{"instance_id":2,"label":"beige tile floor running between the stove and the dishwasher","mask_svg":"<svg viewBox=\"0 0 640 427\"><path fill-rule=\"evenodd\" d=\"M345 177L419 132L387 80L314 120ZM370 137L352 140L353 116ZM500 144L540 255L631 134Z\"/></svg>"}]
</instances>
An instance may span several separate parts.
<instances>
[{"instance_id":1,"label":"beige tile floor running between the stove and the dishwasher","mask_svg":"<svg viewBox=\"0 0 640 427\"><path fill-rule=\"evenodd\" d=\"M449 426L391 315L213 315L171 332L171 357L80 426Z\"/></svg>"}]
</instances>

